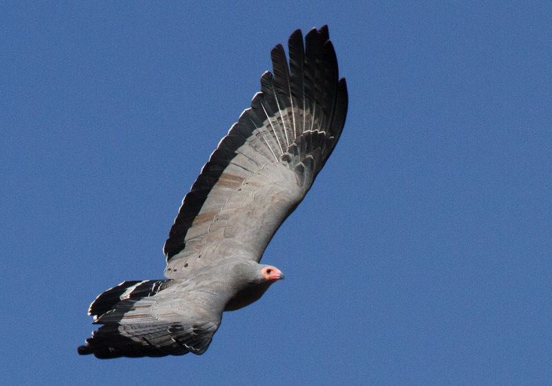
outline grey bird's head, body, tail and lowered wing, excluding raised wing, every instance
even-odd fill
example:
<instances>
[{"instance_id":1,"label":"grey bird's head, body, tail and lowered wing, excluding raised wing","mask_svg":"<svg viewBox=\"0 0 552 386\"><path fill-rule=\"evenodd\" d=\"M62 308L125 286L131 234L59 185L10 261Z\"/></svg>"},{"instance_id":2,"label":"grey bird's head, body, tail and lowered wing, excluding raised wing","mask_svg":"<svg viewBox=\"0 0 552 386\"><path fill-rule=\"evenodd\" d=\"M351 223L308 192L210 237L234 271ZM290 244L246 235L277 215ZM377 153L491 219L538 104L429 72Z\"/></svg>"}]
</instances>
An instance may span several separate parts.
<instances>
[{"instance_id":1,"label":"grey bird's head, body, tail and lowered wing, excluding raised wing","mask_svg":"<svg viewBox=\"0 0 552 386\"><path fill-rule=\"evenodd\" d=\"M283 278L276 267L235 260L188 279L122 282L90 305L93 323L103 326L78 352L97 358L203 354L223 311L246 307Z\"/></svg>"}]
</instances>

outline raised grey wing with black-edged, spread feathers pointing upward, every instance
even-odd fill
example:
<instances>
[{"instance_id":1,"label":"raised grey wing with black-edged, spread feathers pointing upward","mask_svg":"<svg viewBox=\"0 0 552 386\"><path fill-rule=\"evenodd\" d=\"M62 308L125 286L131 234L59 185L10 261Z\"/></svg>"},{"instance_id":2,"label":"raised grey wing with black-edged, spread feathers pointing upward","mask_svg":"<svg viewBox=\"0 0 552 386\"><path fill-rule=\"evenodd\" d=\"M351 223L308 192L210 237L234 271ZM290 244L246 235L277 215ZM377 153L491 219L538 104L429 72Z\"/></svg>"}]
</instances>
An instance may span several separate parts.
<instances>
[{"instance_id":1,"label":"raised grey wing with black-edged, spread feathers pointing upward","mask_svg":"<svg viewBox=\"0 0 552 386\"><path fill-rule=\"evenodd\" d=\"M328 28L271 52L273 72L184 197L164 252L168 278L232 257L259 261L333 151L347 111Z\"/></svg>"}]
</instances>

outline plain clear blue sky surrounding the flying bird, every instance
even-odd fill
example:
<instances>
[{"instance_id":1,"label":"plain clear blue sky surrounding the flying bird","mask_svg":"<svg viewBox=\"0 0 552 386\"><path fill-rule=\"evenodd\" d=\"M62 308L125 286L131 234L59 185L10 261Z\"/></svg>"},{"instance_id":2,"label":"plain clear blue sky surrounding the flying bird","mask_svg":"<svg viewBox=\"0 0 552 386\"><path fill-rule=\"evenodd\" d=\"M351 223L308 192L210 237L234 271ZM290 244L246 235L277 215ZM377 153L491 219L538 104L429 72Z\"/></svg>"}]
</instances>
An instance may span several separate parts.
<instances>
[{"instance_id":1,"label":"plain clear blue sky surrounding the flying bird","mask_svg":"<svg viewBox=\"0 0 552 386\"><path fill-rule=\"evenodd\" d=\"M550 2L6 3L6 385L550 384ZM163 278L270 49L324 23L348 117L266 249L286 280L202 356L78 356L101 291Z\"/></svg>"}]
</instances>

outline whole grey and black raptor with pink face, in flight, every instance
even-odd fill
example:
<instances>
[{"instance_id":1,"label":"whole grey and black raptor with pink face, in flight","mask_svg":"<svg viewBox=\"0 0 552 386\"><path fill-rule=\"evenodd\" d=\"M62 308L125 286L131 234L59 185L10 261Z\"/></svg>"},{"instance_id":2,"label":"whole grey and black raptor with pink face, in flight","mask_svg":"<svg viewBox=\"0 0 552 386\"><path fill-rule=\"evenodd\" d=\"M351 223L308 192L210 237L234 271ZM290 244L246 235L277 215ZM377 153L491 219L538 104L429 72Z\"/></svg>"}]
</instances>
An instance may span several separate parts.
<instances>
[{"instance_id":1,"label":"whole grey and black raptor with pink face, in flight","mask_svg":"<svg viewBox=\"0 0 552 386\"><path fill-rule=\"evenodd\" d=\"M127 280L90 305L100 325L81 355L203 354L224 311L255 302L284 273L260 260L333 152L348 108L328 27L295 30L273 73L185 195L164 244L166 279Z\"/></svg>"}]
</instances>

